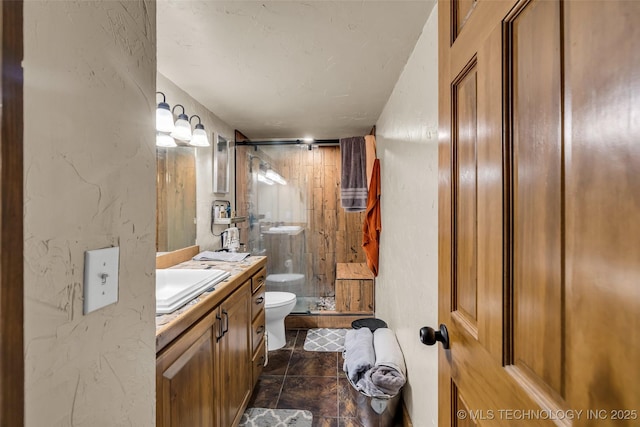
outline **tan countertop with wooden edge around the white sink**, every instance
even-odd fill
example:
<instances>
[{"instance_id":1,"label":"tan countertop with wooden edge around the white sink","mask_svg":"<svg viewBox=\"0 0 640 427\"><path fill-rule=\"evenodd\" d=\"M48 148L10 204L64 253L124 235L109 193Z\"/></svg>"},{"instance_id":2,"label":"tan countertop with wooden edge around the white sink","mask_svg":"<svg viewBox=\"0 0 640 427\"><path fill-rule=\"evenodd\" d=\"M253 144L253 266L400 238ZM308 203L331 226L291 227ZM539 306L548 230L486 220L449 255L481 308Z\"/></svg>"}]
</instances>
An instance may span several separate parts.
<instances>
[{"instance_id":1,"label":"tan countertop with wooden edge around the white sink","mask_svg":"<svg viewBox=\"0 0 640 427\"><path fill-rule=\"evenodd\" d=\"M223 299L245 283L267 263L267 257L249 256L240 262L185 261L169 268L206 269L228 271L231 275L218 283L215 290L205 292L176 311L156 316L156 353L207 314Z\"/></svg>"}]
</instances>

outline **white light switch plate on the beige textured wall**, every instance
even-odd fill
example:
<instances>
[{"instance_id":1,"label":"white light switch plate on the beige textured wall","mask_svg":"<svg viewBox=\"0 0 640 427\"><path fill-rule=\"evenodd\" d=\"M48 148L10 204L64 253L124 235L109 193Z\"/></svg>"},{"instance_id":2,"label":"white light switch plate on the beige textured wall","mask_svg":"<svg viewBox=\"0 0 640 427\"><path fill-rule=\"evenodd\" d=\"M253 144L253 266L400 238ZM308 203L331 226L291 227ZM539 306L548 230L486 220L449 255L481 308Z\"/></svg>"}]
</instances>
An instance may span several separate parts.
<instances>
[{"instance_id":1,"label":"white light switch plate on the beige textured wall","mask_svg":"<svg viewBox=\"0 0 640 427\"><path fill-rule=\"evenodd\" d=\"M84 314L118 302L120 248L84 253Z\"/></svg>"}]
</instances>

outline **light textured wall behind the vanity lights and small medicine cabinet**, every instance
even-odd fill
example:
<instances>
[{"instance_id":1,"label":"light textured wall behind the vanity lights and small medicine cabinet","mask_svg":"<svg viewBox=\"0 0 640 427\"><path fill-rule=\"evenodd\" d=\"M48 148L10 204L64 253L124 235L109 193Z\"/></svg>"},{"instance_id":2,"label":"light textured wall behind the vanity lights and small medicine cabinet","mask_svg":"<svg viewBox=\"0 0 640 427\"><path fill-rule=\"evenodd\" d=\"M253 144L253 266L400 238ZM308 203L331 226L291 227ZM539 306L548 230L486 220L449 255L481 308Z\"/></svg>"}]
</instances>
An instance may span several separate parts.
<instances>
[{"instance_id":1,"label":"light textured wall behind the vanity lights and small medicine cabinet","mask_svg":"<svg viewBox=\"0 0 640 427\"><path fill-rule=\"evenodd\" d=\"M222 121L218 116L207 110L202 104L193 99L191 95L180 89L171 80L167 79L162 74L158 73L157 88L167 96L167 103L173 108L176 104L182 104L185 108L186 114L191 117L197 114L202 119L204 129L209 136L210 147L192 148L196 156L196 243L200 245L202 250L212 250L221 247L220 237L211 234L210 220L211 220L211 203L216 199L225 199L234 202L235 186L234 179L234 158L233 158L233 136L234 129L227 123ZM158 102L161 100L161 96L158 95ZM180 108L176 112L181 111ZM198 119L193 119L193 126L198 123ZM218 134L227 138L231 149L231 158L229 160L229 193L214 193L213 192L213 163L212 163L212 151L213 151L213 134L217 137ZM220 234L226 226L215 225L214 232ZM243 239L244 241L244 239Z\"/></svg>"}]
</instances>

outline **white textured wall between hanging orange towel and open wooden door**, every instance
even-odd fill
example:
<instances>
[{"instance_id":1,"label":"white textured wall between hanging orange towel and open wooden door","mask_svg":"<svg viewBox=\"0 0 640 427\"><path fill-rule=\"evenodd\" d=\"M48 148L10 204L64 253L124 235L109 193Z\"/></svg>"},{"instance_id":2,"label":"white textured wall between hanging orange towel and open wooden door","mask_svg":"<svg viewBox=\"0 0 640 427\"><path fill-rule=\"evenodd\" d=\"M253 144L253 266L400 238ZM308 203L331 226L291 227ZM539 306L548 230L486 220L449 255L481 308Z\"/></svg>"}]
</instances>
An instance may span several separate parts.
<instances>
[{"instance_id":1,"label":"white textured wall between hanging orange towel and open wooden door","mask_svg":"<svg viewBox=\"0 0 640 427\"><path fill-rule=\"evenodd\" d=\"M418 340L438 321L438 13L431 12L377 122L382 176L376 315L396 331L413 424L437 425L437 347Z\"/></svg>"}]
</instances>

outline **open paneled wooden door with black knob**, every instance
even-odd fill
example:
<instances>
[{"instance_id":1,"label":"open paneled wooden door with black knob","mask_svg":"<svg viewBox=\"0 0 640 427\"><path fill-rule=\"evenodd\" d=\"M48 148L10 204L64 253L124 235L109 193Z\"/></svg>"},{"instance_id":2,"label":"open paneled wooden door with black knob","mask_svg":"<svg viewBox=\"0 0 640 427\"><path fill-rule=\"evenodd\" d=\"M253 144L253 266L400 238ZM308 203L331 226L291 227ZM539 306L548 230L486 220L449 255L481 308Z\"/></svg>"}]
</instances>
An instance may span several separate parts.
<instances>
[{"instance_id":1,"label":"open paneled wooden door with black knob","mask_svg":"<svg viewBox=\"0 0 640 427\"><path fill-rule=\"evenodd\" d=\"M640 2L439 8L439 425L638 425Z\"/></svg>"}]
</instances>

